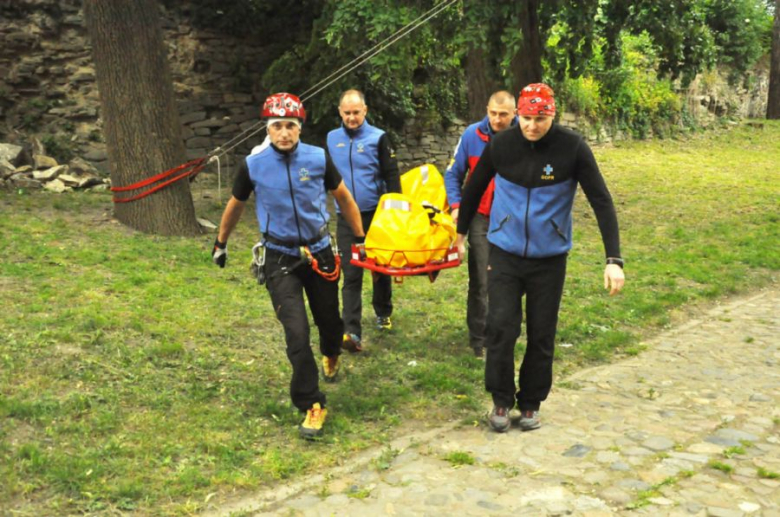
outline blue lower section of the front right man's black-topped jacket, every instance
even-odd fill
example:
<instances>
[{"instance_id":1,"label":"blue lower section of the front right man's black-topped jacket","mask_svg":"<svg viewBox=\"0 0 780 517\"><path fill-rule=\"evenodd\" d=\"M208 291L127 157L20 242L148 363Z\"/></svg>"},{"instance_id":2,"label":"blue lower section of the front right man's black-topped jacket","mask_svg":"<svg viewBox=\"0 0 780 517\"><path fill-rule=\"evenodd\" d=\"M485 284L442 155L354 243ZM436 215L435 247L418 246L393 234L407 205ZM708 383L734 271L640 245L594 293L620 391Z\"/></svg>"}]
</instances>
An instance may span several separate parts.
<instances>
[{"instance_id":1,"label":"blue lower section of the front right man's black-topped jacket","mask_svg":"<svg viewBox=\"0 0 780 517\"><path fill-rule=\"evenodd\" d=\"M496 174L495 182L488 241L528 258L552 257L571 249L574 179L527 188Z\"/></svg>"}]
</instances>

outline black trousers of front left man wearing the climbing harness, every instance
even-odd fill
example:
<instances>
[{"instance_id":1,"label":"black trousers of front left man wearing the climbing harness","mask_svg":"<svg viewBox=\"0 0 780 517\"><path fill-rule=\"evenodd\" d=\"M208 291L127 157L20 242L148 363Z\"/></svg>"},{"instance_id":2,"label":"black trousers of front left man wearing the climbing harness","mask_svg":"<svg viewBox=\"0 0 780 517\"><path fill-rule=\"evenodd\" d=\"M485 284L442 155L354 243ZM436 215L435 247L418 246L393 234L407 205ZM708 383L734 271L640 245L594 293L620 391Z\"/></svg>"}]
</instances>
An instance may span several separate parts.
<instances>
[{"instance_id":1,"label":"black trousers of front left man wearing the climbing harness","mask_svg":"<svg viewBox=\"0 0 780 517\"><path fill-rule=\"evenodd\" d=\"M321 270L333 271L335 258L328 247L314 257ZM290 269L298 264L294 269ZM303 293L309 300L314 324L320 334L320 353L332 357L341 354L344 324L339 315L338 280L328 281L314 272L308 264L271 249L266 250L266 287L271 294L276 317L284 327L287 358L292 365L290 398L301 411L315 402L325 407L325 394L319 388L318 360L310 343L309 318Z\"/></svg>"}]
</instances>

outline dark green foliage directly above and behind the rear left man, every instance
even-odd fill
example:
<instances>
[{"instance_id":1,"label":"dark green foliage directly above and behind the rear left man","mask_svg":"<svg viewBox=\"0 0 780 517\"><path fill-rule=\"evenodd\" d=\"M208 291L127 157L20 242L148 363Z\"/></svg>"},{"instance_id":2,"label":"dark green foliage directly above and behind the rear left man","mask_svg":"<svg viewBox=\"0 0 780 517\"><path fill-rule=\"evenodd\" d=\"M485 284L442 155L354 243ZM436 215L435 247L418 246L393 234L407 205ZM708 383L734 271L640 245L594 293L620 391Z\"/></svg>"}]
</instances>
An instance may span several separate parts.
<instances>
[{"instance_id":1,"label":"dark green foliage directly above and behind the rear left man","mask_svg":"<svg viewBox=\"0 0 780 517\"><path fill-rule=\"evenodd\" d=\"M432 6L433 2L329 0L314 22L310 40L292 45L274 62L263 77L264 87L311 93L316 83L356 66L361 54ZM446 120L462 111L463 74L459 60L452 57L458 52L437 23L438 19L421 26L307 102L309 130L323 135L340 123L338 99L348 88L365 93L371 122L384 129L398 130L410 117Z\"/></svg>"}]
</instances>

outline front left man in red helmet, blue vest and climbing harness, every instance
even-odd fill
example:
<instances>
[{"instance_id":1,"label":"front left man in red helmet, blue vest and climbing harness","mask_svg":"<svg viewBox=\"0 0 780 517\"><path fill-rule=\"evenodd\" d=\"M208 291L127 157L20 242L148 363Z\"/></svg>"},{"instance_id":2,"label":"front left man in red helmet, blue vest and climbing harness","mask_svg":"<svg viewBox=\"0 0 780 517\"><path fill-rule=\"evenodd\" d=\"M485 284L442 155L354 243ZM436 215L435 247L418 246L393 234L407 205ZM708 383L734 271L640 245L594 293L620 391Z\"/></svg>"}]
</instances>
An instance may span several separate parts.
<instances>
[{"instance_id":1,"label":"front left man in red helmet, blue vest and climbing harness","mask_svg":"<svg viewBox=\"0 0 780 517\"><path fill-rule=\"evenodd\" d=\"M336 380L344 324L339 315L339 258L328 233L327 191L341 208L354 239L364 238L360 212L324 149L300 142L306 119L295 95L278 93L266 99L262 111L269 144L249 155L236 176L233 196L225 207L212 258L227 261L227 240L238 224L249 196L255 204L263 252L258 281L265 282L276 317L284 327L287 357L292 364L290 397L306 413L301 436L322 433L327 416L325 394L319 389L317 362L309 341L309 321L303 293L319 329L322 374Z\"/></svg>"}]
</instances>

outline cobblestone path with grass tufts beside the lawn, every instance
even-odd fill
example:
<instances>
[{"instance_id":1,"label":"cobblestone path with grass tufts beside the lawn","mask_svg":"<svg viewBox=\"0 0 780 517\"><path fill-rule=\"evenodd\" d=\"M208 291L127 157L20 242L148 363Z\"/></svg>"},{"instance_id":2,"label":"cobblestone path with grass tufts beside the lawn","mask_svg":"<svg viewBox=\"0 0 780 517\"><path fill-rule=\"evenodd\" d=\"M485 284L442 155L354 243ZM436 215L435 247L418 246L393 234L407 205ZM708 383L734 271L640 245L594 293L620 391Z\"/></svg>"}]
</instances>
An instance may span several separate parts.
<instances>
[{"instance_id":1,"label":"cobblestone path with grass tufts beside the lawn","mask_svg":"<svg viewBox=\"0 0 780 517\"><path fill-rule=\"evenodd\" d=\"M731 301L559 381L539 430L451 423L213 515L780 517L779 308Z\"/></svg>"}]
</instances>

